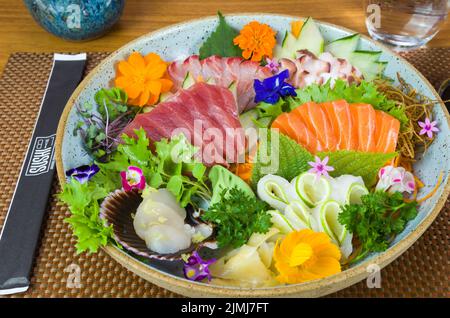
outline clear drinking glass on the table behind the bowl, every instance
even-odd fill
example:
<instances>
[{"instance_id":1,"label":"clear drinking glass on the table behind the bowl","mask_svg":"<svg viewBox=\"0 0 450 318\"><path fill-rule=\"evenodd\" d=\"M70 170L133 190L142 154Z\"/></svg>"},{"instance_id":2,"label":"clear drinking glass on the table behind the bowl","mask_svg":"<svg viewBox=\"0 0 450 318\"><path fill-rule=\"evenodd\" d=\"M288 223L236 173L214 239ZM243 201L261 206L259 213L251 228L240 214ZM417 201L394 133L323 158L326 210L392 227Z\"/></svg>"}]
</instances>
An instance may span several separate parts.
<instances>
[{"instance_id":1,"label":"clear drinking glass on the table behind the bowl","mask_svg":"<svg viewBox=\"0 0 450 318\"><path fill-rule=\"evenodd\" d=\"M430 41L447 18L450 0L364 0L370 36L399 49Z\"/></svg>"}]
</instances>

